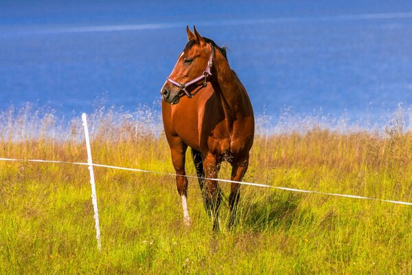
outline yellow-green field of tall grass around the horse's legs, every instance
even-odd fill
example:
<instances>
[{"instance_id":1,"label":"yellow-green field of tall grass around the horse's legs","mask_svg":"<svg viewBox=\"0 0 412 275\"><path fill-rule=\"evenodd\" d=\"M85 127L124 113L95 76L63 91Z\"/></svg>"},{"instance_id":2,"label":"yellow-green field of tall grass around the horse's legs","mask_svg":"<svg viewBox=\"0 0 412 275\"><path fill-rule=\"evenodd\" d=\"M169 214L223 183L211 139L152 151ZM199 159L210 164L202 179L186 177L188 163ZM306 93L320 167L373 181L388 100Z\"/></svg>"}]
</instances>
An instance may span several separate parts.
<instances>
[{"instance_id":1,"label":"yellow-green field of tall grass around the horse's legs","mask_svg":"<svg viewBox=\"0 0 412 275\"><path fill-rule=\"evenodd\" d=\"M0 157L87 162L78 120L3 113L1 127ZM157 127L92 116L94 162L173 172ZM225 229L224 199L215 235L194 179L185 228L174 177L95 168L95 178L101 252L86 166L0 162L1 274L412 274L411 206L243 186L236 227ZM258 135L244 180L412 201L412 133L398 121L380 133Z\"/></svg>"}]
</instances>

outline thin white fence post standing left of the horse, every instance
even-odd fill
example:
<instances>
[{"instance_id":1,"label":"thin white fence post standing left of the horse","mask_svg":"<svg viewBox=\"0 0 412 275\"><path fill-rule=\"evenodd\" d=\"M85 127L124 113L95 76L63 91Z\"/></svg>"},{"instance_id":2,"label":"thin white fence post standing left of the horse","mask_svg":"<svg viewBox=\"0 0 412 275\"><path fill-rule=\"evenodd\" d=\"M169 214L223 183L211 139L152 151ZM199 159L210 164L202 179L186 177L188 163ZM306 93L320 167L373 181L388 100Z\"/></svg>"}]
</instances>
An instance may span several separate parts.
<instances>
[{"instance_id":1,"label":"thin white fence post standing left of the horse","mask_svg":"<svg viewBox=\"0 0 412 275\"><path fill-rule=\"evenodd\" d=\"M96 239L98 240L98 250L100 251L102 250L102 243L100 242L98 197L96 196L96 186L95 186L94 173L93 173L93 161L91 159L89 129L87 127L86 113L82 114L82 121L83 121L83 126L84 126L84 137L86 138L86 146L87 146L87 163L89 164L89 172L90 172L91 202L93 203L93 210L94 210Z\"/></svg>"}]
</instances>

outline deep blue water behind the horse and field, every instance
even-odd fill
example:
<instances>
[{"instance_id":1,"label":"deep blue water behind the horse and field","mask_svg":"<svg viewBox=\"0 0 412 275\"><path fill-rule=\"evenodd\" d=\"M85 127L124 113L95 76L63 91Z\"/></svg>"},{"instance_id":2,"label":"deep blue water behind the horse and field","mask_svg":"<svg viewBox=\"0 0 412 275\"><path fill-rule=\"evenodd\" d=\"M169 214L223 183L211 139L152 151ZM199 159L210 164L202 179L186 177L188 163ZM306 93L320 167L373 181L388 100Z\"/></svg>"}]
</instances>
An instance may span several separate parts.
<instances>
[{"instance_id":1,"label":"deep blue water behind the horse and field","mask_svg":"<svg viewBox=\"0 0 412 275\"><path fill-rule=\"evenodd\" d=\"M257 113L378 120L412 104L412 1L32 2L0 1L0 110L160 102L193 24L229 47Z\"/></svg>"}]
</instances>

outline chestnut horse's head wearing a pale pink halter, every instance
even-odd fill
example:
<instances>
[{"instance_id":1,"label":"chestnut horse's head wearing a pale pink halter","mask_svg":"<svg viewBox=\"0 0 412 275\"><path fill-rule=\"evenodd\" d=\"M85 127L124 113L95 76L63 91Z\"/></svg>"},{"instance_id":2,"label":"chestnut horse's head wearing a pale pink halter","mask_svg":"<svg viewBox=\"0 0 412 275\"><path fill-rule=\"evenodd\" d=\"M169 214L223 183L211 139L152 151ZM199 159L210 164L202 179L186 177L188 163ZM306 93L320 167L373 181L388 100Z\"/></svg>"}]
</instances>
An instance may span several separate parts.
<instances>
[{"instance_id":1,"label":"chestnut horse's head wearing a pale pink halter","mask_svg":"<svg viewBox=\"0 0 412 275\"><path fill-rule=\"evenodd\" d=\"M177 104L182 96L192 98L191 91L196 87L206 87L211 76L213 65L214 47L207 43L194 28L194 33L187 26L187 43L179 55L172 74L165 85L161 87L160 94L170 104Z\"/></svg>"}]
</instances>

